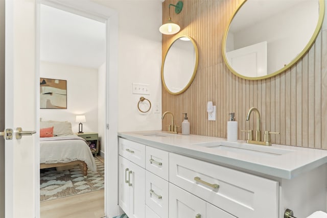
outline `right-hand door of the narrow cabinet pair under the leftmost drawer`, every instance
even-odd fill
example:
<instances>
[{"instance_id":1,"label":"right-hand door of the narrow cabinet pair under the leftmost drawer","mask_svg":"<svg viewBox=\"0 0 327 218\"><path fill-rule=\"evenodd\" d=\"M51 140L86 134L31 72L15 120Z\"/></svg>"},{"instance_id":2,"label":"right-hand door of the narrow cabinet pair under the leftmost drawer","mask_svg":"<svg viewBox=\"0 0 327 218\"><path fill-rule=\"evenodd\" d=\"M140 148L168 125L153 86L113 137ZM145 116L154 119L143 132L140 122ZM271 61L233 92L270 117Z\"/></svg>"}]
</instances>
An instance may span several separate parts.
<instances>
[{"instance_id":1,"label":"right-hand door of the narrow cabinet pair under the leftmost drawer","mask_svg":"<svg viewBox=\"0 0 327 218\"><path fill-rule=\"evenodd\" d=\"M129 185L130 189L130 207L129 218L144 218L145 217L145 169L130 162Z\"/></svg>"}]
</instances>

